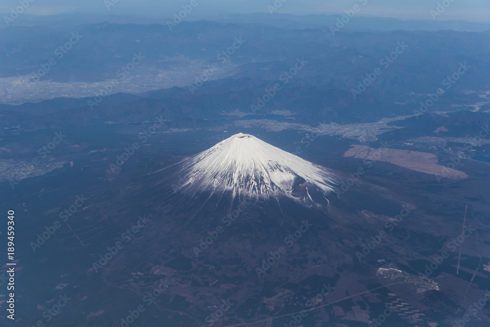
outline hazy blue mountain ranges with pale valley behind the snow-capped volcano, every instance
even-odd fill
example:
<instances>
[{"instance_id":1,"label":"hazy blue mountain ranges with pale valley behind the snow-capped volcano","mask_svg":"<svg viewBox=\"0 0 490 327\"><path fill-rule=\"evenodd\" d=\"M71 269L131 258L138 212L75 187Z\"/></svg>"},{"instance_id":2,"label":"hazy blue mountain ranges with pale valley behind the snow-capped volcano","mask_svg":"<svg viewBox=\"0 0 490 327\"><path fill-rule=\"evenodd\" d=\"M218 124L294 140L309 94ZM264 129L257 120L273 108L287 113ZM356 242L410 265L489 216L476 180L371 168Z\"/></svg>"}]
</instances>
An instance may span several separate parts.
<instances>
[{"instance_id":1,"label":"hazy blue mountain ranges with pale valley behind the snow-capped volcano","mask_svg":"<svg viewBox=\"0 0 490 327\"><path fill-rule=\"evenodd\" d=\"M327 25L286 24L309 18L320 22L321 15L274 16L271 22L285 19L283 25L264 25L261 14L237 17L243 21L182 22L173 31L166 25L108 22L68 29L32 25L0 30L4 58L0 101L23 102L22 97L31 99L33 94L42 100L52 98L52 92L55 98L86 97L0 105L0 126L30 130L106 122L138 124L152 121L156 114L171 124L180 125L176 122L185 119L209 124L210 120L264 118L276 112L291 113L275 119L294 123L375 122L412 115L421 101L430 100L440 88L445 93L429 112L490 111L488 31L354 32L346 27L332 35ZM26 82L72 32L83 38L40 82ZM233 48L236 38L243 40L239 49ZM219 55L229 49L233 53L222 64ZM128 88L134 95L120 92L95 103L134 53L145 58L112 91ZM298 60L303 63L299 70ZM448 77L461 65L467 65L467 71L447 89ZM157 79L172 87L159 87ZM45 92L46 87L51 93ZM67 88L61 91L62 87ZM225 115L237 110L242 117Z\"/></svg>"}]
</instances>

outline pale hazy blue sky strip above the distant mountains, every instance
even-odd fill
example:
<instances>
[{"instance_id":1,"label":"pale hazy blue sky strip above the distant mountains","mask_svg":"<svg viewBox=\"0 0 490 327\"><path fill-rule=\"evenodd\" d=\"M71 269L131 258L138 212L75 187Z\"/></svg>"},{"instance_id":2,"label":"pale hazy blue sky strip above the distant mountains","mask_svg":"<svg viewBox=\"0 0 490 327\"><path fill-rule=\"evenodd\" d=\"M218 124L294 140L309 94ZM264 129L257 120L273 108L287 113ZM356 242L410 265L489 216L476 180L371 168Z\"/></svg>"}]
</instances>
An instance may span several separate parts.
<instances>
[{"instance_id":1,"label":"pale hazy blue sky strip above the distant mountains","mask_svg":"<svg viewBox=\"0 0 490 327\"><path fill-rule=\"evenodd\" d=\"M27 1L27 0L25 0ZM25 10L30 14L56 14L62 12L94 12L100 14L151 14L170 18L180 6L190 0L119 0L108 11L106 0L34 0ZM117 0L111 0L117 1ZM279 1L279 0L277 0ZM360 4L359 15L395 17L401 19L432 19L431 9L442 0L286 0L278 12L291 14L340 13ZM445 0L450 2L451 0ZM19 0L1 0L0 10L9 11L18 6ZM267 12L274 0L197 0L192 16L240 12ZM366 3L367 2L367 3ZM362 5L362 3L366 3ZM192 19L192 17L189 17ZM438 20L490 21L490 0L453 0Z\"/></svg>"}]
</instances>

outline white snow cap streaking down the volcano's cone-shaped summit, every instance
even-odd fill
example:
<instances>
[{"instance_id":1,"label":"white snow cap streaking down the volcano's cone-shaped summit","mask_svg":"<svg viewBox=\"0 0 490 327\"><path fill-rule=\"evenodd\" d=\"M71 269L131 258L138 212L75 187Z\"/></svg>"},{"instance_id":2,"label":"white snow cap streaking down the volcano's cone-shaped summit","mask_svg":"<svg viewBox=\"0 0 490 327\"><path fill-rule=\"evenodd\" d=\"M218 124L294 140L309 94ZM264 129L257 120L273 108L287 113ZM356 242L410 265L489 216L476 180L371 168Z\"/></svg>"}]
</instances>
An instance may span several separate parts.
<instances>
[{"instance_id":1,"label":"white snow cap streaking down the volcano's cone-shaped summit","mask_svg":"<svg viewBox=\"0 0 490 327\"><path fill-rule=\"evenodd\" d=\"M313 201L309 188L323 196L334 191L337 180L326 168L242 133L182 164L181 173L187 179L182 190L186 192L232 191L233 196L263 198L283 193L296 200Z\"/></svg>"}]
</instances>

